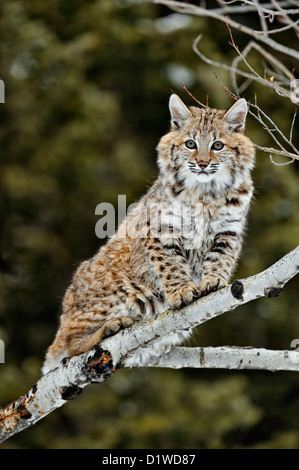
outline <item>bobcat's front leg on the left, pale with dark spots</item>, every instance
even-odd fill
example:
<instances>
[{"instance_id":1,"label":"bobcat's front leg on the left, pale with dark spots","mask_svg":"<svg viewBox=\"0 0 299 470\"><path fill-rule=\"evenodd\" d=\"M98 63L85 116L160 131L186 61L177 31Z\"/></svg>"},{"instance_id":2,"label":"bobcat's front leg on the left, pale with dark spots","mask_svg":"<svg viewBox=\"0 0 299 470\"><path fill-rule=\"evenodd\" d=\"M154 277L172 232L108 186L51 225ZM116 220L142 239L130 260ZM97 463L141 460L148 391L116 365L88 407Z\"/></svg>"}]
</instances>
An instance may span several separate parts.
<instances>
[{"instance_id":1,"label":"bobcat's front leg on the left, pale with dark spots","mask_svg":"<svg viewBox=\"0 0 299 470\"><path fill-rule=\"evenodd\" d=\"M181 308L199 298L200 290L192 281L189 265L177 242L163 244L158 238L149 238L145 250L162 281L170 308Z\"/></svg>"}]
</instances>

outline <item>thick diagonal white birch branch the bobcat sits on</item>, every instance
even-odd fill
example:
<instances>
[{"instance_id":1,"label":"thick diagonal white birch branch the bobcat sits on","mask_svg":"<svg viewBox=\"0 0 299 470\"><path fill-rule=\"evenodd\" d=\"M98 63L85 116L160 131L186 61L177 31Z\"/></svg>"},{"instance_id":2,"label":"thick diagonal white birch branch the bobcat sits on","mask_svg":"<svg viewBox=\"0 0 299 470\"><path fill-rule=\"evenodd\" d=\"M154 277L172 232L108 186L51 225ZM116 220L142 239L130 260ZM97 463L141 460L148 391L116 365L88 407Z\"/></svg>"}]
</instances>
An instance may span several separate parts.
<instances>
[{"instance_id":1,"label":"thick diagonal white birch branch the bobcat sits on","mask_svg":"<svg viewBox=\"0 0 299 470\"><path fill-rule=\"evenodd\" d=\"M298 272L299 246L259 274L234 281L231 286L181 310L169 310L146 322L136 323L105 339L91 351L64 359L58 368L43 376L28 393L0 409L0 442L76 398L88 384L103 382L126 364L134 366L134 355L145 345L151 347L167 334L190 329L251 300L277 297L282 293L283 286ZM264 366L267 368L266 361Z\"/></svg>"}]
</instances>

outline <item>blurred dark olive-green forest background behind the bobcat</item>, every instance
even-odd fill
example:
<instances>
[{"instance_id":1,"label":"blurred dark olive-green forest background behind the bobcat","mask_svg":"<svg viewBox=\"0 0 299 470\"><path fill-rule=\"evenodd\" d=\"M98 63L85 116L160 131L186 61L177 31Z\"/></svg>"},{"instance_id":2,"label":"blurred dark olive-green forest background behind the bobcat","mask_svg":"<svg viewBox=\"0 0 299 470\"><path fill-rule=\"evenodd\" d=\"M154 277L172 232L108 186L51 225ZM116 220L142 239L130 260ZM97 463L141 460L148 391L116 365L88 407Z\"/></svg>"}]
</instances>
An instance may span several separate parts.
<instances>
[{"instance_id":1,"label":"blurred dark olive-green forest background behind the bobcat","mask_svg":"<svg viewBox=\"0 0 299 470\"><path fill-rule=\"evenodd\" d=\"M211 107L231 106L192 51L193 40L203 33L201 49L220 62L236 52L224 24L141 0L10 0L0 8L4 406L39 379L72 273L104 242L95 235L97 204L116 205L119 194L130 204L156 178L170 94L193 105L183 81L199 100L208 94ZM240 48L248 41L234 38ZM298 47L289 31L282 38ZM229 86L227 74L217 73ZM258 85L245 98L254 91L288 133L294 105ZM250 117L247 134L273 146ZM257 152L255 201L235 278L267 268L298 244L298 179L298 162L278 167ZM281 297L204 324L192 345L290 349L294 338L298 277ZM122 370L1 448L298 448L298 417L295 372Z\"/></svg>"}]
</instances>

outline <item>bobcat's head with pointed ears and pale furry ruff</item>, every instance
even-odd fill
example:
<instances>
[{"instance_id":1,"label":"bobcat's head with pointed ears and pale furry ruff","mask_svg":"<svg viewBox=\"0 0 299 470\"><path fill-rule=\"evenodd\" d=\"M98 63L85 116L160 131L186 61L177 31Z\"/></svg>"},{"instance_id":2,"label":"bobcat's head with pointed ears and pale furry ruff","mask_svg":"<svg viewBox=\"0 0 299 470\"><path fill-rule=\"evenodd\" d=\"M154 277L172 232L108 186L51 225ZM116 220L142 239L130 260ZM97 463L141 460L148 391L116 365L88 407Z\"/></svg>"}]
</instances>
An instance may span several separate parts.
<instances>
[{"instance_id":1,"label":"bobcat's head with pointed ears and pale furry ruff","mask_svg":"<svg viewBox=\"0 0 299 470\"><path fill-rule=\"evenodd\" d=\"M174 96L174 95L173 95ZM227 112L187 108L171 98L172 130L159 144L159 163L181 188L227 190L252 170L254 149L243 134L247 104L239 100Z\"/></svg>"}]
</instances>

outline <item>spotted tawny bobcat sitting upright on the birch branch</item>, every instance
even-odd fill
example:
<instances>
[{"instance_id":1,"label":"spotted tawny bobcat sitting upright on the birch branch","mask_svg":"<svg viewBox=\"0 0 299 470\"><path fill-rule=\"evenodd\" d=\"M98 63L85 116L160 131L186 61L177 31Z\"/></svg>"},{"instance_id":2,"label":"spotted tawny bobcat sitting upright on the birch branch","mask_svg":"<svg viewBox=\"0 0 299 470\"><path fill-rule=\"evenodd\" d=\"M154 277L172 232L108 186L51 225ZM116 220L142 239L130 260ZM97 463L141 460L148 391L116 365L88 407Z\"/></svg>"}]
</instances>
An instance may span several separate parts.
<instances>
[{"instance_id":1,"label":"spotted tawny bobcat sitting upright on the birch branch","mask_svg":"<svg viewBox=\"0 0 299 470\"><path fill-rule=\"evenodd\" d=\"M77 269L44 373L135 321L227 285L253 193L247 103L239 99L228 111L188 108L171 95L169 109L171 129L157 147L159 176L117 233ZM151 353L189 334L176 332Z\"/></svg>"}]
</instances>

